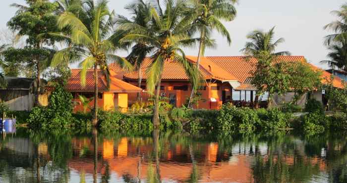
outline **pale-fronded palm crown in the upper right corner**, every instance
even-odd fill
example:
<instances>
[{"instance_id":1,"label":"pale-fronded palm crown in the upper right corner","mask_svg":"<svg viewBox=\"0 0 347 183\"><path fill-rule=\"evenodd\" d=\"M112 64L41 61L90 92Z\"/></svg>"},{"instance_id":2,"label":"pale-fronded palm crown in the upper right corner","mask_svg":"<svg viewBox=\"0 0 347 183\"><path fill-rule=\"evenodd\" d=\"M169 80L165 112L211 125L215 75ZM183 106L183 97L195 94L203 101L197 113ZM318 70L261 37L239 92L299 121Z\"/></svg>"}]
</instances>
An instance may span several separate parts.
<instances>
[{"instance_id":1,"label":"pale-fronded palm crown in the upper right corner","mask_svg":"<svg viewBox=\"0 0 347 183\"><path fill-rule=\"evenodd\" d=\"M332 11L332 14L336 15L339 19L324 26L324 29L333 30L335 32L335 34L325 37L325 45L327 46L334 43L346 43L347 3L343 4L339 11Z\"/></svg>"}]
</instances>

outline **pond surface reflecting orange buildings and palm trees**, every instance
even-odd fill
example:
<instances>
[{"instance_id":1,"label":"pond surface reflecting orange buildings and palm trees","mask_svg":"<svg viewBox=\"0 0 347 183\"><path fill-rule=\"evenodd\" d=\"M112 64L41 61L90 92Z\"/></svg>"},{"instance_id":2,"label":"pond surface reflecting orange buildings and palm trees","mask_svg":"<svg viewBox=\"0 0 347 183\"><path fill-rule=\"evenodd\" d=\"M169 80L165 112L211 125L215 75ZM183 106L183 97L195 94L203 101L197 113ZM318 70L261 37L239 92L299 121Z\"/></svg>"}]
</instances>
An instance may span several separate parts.
<instances>
[{"instance_id":1,"label":"pond surface reflecting orange buildings and palm trees","mask_svg":"<svg viewBox=\"0 0 347 183\"><path fill-rule=\"evenodd\" d=\"M190 137L17 129L0 141L0 182L347 182L346 137Z\"/></svg>"}]
</instances>

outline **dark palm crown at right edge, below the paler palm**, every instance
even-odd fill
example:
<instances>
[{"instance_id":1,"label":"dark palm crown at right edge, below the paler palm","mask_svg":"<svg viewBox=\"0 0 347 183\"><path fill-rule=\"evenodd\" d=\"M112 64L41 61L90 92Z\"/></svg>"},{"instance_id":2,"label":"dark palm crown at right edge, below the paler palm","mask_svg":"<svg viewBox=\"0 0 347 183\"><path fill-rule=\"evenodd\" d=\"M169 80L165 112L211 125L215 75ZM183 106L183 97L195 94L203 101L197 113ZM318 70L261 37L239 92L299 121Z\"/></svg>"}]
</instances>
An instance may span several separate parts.
<instances>
[{"instance_id":1,"label":"dark palm crown at right edge, below the paler palm","mask_svg":"<svg viewBox=\"0 0 347 183\"><path fill-rule=\"evenodd\" d=\"M328 46L329 60L322 60L321 63L328 63L331 68L337 67L344 71L347 71L347 45L334 44Z\"/></svg>"}]
</instances>

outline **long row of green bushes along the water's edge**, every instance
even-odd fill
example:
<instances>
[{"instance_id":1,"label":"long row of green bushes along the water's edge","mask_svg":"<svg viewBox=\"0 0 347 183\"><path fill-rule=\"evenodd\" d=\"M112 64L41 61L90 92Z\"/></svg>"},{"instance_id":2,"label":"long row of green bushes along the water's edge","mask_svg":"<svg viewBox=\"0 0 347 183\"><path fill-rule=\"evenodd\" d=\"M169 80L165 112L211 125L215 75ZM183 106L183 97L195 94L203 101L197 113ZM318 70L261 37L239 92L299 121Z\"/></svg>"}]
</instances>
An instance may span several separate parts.
<instances>
[{"instance_id":1,"label":"long row of green bushes along the water's edge","mask_svg":"<svg viewBox=\"0 0 347 183\"><path fill-rule=\"evenodd\" d=\"M28 118L28 126L34 130L73 129L90 130L91 113L72 113L72 95L63 87L57 87L47 107L35 107ZM327 130L347 131L347 115L324 114L323 106L316 100L309 100L305 107L307 114L294 117L291 112L279 108L250 109L236 108L224 104L220 110L192 110L185 107L173 108L160 114L162 130L185 131L190 134L251 134L277 132L295 129L295 132L314 135ZM291 107L292 108L292 107ZM152 114L123 114L118 111L98 111L99 128L103 132L148 133L154 129Z\"/></svg>"}]
</instances>

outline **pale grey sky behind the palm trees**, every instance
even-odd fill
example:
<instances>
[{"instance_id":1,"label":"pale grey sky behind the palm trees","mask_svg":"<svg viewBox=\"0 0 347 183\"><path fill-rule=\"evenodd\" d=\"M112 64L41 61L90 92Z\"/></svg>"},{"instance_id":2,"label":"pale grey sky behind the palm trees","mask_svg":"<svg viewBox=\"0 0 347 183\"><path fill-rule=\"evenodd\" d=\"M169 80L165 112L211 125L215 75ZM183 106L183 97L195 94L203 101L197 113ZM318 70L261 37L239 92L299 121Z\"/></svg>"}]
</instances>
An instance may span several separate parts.
<instances>
[{"instance_id":1,"label":"pale grey sky behind the palm trees","mask_svg":"<svg viewBox=\"0 0 347 183\"><path fill-rule=\"evenodd\" d=\"M117 14L128 16L124 6L133 0L109 0L110 9ZM326 59L328 50L323 39L331 32L323 26L336 20L331 11L338 10L346 0L238 0L235 4L237 16L235 20L224 25L230 32L232 43L218 33L212 35L217 47L207 49L206 56L242 55L239 51L247 42L246 36L255 29L268 31L276 26L276 39L284 38L285 43L278 46L277 51L290 51L292 55L303 55L310 62L322 68L320 64ZM0 29L6 28L6 22L14 16L16 8L12 3L24 4L24 0L1 0ZM186 55L196 55L197 48L184 49ZM126 52L119 52L125 56Z\"/></svg>"}]
</instances>

